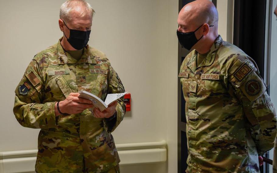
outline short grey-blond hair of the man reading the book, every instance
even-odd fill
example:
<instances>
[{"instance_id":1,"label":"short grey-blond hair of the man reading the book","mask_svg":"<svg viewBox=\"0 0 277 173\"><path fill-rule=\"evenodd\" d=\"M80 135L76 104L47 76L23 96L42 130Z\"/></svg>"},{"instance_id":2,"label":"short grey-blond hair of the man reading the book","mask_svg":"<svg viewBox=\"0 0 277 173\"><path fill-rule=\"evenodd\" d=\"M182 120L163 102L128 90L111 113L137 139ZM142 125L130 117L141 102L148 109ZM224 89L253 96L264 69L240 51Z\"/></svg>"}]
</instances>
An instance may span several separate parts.
<instances>
[{"instance_id":1,"label":"short grey-blond hair of the man reading the book","mask_svg":"<svg viewBox=\"0 0 277 173\"><path fill-rule=\"evenodd\" d=\"M91 7L89 3L87 3L84 0L68 0L65 3L61 5L60 8L60 19L64 21L70 21L72 19L72 16L70 12L75 9L76 6L83 6L85 7L85 10L83 10L80 14L80 17L84 17L86 15L89 15L93 17L95 11Z\"/></svg>"}]
</instances>

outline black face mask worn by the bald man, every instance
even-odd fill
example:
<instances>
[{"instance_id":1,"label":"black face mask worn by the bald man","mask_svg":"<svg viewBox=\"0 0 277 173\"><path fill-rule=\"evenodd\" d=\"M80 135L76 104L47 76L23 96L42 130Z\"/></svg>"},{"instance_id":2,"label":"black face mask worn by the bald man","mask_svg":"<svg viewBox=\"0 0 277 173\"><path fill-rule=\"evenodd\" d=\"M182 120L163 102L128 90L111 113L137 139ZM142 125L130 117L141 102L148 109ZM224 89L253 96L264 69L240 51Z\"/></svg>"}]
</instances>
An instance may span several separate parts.
<instances>
[{"instance_id":1,"label":"black face mask worn by the bald man","mask_svg":"<svg viewBox=\"0 0 277 173\"><path fill-rule=\"evenodd\" d=\"M203 25L201 25L203 26ZM197 40L196 36L195 36L195 32L201 27L199 26L195 31L193 32L188 32L188 33L182 33L182 32L179 32L177 30L177 37L178 37L178 40L180 42L180 44L188 49L188 50L191 50L192 46L194 46L204 35L202 35L201 38L199 38ZM210 27L212 27L213 25L210 25Z\"/></svg>"}]
</instances>

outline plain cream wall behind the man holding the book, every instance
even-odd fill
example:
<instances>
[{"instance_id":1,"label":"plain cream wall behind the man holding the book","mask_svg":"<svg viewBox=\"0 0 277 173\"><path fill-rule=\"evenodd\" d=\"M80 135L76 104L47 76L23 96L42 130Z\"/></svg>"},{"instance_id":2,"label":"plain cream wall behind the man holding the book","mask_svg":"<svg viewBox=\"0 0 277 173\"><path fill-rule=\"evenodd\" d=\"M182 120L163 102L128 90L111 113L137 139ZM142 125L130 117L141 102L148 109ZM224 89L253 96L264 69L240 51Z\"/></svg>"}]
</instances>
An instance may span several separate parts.
<instances>
[{"instance_id":1,"label":"plain cream wall behind the man holding the book","mask_svg":"<svg viewBox=\"0 0 277 173\"><path fill-rule=\"evenodd\" d=\"M0 0L0 152L37 148L38 129L20 126L14 90L37 52L57 43L63 0ZM113 133L119 143L168 143L168 162L122 172L177 172L178 0L87 0L96 11L89 45L103 51L131 93L132 111Z\"/></svg>"}]
</instances>

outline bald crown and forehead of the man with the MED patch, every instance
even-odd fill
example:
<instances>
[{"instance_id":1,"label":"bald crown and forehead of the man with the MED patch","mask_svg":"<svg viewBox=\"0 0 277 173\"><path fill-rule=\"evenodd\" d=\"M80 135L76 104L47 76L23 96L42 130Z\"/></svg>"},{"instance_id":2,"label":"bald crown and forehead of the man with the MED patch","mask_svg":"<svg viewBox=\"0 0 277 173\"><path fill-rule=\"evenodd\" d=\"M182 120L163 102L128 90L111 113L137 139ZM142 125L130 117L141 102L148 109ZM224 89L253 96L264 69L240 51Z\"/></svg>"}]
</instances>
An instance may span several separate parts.
<instances>
[{"instance_id":1,"label":"bald crown and forehead of the man with the MED patch","mask_svg":"<svg viewBox=\"0 0 277 173\"><path fill-rule=\"evenodd\" d=\"M204 23L218 26L218 12L209 0L196 0L185 5L178 16L178 24L201 26Z\"/></svg>"}]
</instances>

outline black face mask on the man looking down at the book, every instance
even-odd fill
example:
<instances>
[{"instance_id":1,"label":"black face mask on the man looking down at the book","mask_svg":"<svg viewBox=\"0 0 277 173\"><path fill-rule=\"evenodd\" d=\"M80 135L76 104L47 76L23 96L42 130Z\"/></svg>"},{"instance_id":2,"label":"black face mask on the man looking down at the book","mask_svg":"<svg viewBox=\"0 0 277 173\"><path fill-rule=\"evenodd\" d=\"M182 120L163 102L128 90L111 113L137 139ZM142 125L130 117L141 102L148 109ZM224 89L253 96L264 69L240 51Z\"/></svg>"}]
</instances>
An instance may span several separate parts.
<instances>
[{"instance_id":1,"label":"black face mask on the man looking down at the book","mask_svg":"<svg viewBox=\"0 0 277 173\"><path fill-rule=\"evenodd\" d=\"M65 22L64 22L64 24L65 24ZM65 26L66 26L66 24L65 24ZM70 30L69 38L66 37L65 32L64 32L64 35L67 38L68 43L74 49L81 50L88 44L89 34L90 34L91 30L89 30L89 31L80 31L80 30L72 30L72 29L69 29L69 30Z\"/></svg>"}]
</instances>

